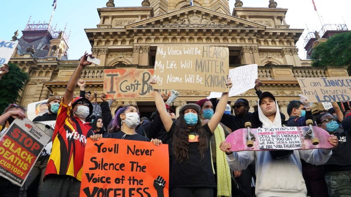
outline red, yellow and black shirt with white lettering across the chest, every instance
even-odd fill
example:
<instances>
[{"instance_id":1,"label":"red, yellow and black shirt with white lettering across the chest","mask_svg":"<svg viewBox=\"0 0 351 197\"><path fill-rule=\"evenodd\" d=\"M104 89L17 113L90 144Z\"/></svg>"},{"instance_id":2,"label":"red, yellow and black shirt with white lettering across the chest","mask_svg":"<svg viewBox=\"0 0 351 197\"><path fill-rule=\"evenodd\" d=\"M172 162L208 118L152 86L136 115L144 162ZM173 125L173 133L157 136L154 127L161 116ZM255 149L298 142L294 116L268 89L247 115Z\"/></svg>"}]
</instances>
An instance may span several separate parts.
<instances>
[{"instance_id":1,"label":"red, yellow and black shirt with white lettering across the chest","mask_svg":"<svg viewBox=\"0 0 351 197\"><path fill-rule=\"evenodd\" d=\"M75 117L71 109L61 102L45 175L70 175L81 181L85 144L93 129L90 122L83 123Z\"/></svg>"}]
</instances>

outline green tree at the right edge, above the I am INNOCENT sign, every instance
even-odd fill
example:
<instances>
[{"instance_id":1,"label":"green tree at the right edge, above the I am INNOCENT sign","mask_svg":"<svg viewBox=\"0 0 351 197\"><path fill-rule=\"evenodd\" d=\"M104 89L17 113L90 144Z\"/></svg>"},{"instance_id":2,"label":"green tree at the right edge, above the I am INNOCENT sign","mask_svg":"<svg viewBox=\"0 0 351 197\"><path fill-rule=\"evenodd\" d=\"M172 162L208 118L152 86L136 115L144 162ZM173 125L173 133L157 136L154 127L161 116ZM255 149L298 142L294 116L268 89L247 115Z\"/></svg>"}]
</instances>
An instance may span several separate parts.
<instances>
[{"instance_id":1,"label":"green tree at the right edge, above the I am INNOCENT sign","mask_svg":"<svg viewBox=\"0 0 351 197\"><path fill-rule=\"evenodd\" d=\"M331 36L311 55L313 66L348 66L351 68L351 31Z\"/></svg>"}]
</instances>

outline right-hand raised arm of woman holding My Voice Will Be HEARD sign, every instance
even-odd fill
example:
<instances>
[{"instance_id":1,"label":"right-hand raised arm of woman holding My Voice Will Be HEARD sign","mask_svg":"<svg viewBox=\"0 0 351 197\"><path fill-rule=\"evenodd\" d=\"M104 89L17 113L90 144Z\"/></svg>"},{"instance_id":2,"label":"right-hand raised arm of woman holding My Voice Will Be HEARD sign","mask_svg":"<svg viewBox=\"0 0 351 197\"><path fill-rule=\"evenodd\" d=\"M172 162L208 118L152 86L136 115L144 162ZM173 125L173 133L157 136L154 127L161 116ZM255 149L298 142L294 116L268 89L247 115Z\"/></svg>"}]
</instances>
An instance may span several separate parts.
<instances>
[{"instance_id":1,"label":"right-hand raised arm of woman holding My Voice Will Be HEARD sign","mask_svg":"<svg viewBox=\"0 0 351 197\"><path fill-rule=\"evenodd\" d=\"M226 84L229 88L232 87L232 80L230 78L227 79ZM226 110L227 102L228 102L229 92L223 92L220 101L217 104L216 111L211 117L210 121L207 123L212 132L215 131L217 125L221 121L221 118Z\"/></svg>"}]
</instances>

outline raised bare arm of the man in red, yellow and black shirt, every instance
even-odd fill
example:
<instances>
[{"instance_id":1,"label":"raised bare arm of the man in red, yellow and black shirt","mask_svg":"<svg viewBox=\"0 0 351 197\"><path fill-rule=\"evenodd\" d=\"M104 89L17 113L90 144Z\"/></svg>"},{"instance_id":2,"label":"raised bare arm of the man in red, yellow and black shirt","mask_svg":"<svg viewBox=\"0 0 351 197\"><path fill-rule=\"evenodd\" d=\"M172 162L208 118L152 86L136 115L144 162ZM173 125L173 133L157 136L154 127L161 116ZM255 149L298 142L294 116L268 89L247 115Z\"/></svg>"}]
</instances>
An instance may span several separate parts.
<instances>
[{"instance_id":1,"label":"raised bare arm of the man in red, yellow and black shirt","mask_svg":"<svg viewBox=\"0 0 351 197\"><path fill-rule=\"evenodd\" d=\"M93 57L91 54L84 53L84 55L80 58L78 67L76 68L76 70L74 70L70 80L68 81L64 99L62 100L64 104L68 105L71 102L71 100L73 99L74 90L77 86L82 70L85 66L91 64L91 62L87 60L88 56Z\"/></svg>"}]
</instances>

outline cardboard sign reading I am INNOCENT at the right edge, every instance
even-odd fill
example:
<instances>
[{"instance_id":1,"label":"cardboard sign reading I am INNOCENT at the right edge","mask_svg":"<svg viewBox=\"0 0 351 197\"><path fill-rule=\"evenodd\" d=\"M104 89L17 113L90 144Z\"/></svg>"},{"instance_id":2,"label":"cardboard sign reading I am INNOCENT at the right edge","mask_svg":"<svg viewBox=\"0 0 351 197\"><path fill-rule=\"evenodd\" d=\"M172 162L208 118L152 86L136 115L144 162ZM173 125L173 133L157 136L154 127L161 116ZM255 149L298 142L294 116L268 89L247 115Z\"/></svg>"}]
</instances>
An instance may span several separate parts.
<instances>
[{"instance_id":1,"label":"cardboard sign reading I am INNOCENT at the right edge","mask_svg":"<svg viewBox=\"0 0 351 197\"><path fill-rule=\"evenodd\" d=\"M297 78L309 102L345 102L351 99L351 77Z\"/></svg>"}]
</instances>

